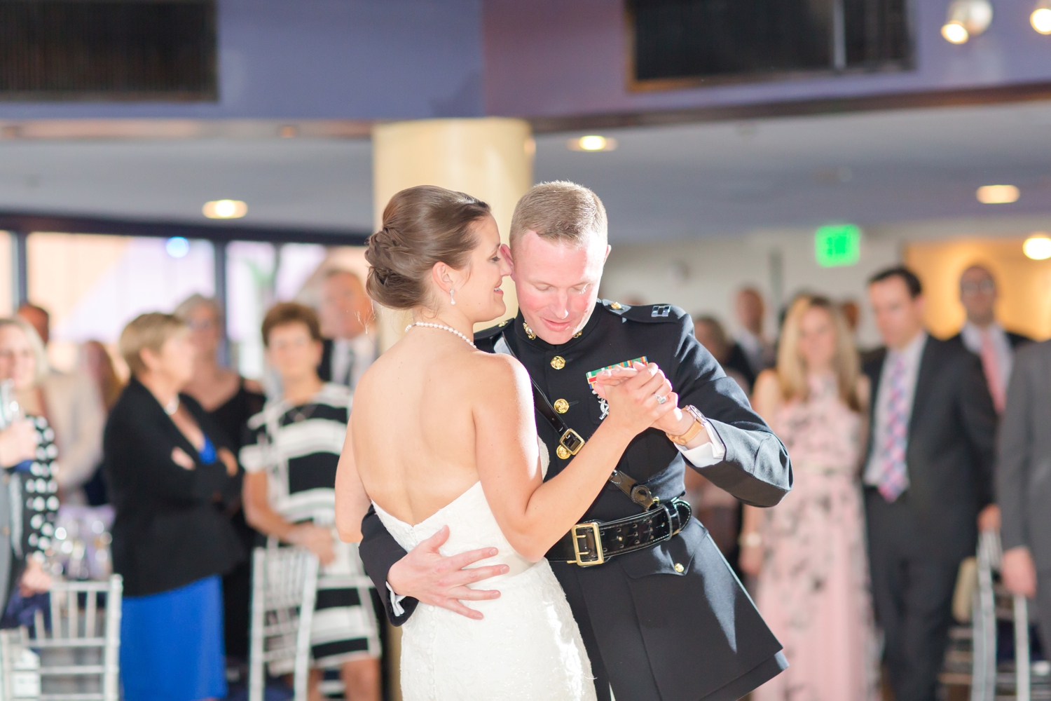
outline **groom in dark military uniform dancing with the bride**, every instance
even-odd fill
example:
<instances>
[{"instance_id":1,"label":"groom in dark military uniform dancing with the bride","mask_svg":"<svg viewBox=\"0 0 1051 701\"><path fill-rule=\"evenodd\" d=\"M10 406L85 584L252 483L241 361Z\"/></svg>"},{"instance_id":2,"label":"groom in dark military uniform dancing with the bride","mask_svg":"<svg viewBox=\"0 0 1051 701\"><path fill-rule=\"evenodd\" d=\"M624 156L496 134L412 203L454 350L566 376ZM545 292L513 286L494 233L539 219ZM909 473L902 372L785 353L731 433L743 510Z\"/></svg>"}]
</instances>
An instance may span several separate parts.
<instances>
[{"instance_id":1,"label":"groom in dark military uniform dancing with the bride","mask_svg":"<svg viewBox=\"0 0 1051 701\"><path fill-rule=\"evenodd\" d=\"M745 503L772 507L791 488L784 446L694 338L688 314L597 300L610 252L598 195L573 183L536 185L518 202L510 238L503 254L520 311L475 342L512 353L533 378L537 428L553 455L548 478L577 448L565 431L586 440L605 416L591 371L645 356L682 404L683 411L636 437L617 466L621 486L611 478L584 515L584 522L630 520L578 525L576 539L568 535L548 553L580 626L598 698L609 700L611 688L620 701L744 696L787 666L781 644L705 528L673 499L684 492L689 465ZM488 550L442 557L447 534L439 532L407 554L373 511L362 533L362 560L394 625L418 601L479 618L462 601L498 596L466 586L498 574L463 569L491 556Z\"/></svg>"}]
</instances>

